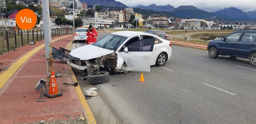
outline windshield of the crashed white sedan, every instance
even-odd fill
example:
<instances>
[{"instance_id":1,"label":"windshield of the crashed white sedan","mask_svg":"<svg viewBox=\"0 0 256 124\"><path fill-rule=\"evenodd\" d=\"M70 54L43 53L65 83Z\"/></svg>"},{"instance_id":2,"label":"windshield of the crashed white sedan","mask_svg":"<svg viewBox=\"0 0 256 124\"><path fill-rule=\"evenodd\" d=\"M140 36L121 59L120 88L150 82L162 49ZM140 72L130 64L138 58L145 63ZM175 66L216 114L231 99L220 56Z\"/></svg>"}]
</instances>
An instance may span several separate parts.
<instances>
[{"instance_id":1,"label":"windshield of the crashed white sedan","mask_svg":"<svg viewBox=\"0 0 256 124\"><path fill-rule=\"evenodd\" d=\"M128 37L109 34L93 44L100 48L116 50Z\"/></svg>"}]
</instances>

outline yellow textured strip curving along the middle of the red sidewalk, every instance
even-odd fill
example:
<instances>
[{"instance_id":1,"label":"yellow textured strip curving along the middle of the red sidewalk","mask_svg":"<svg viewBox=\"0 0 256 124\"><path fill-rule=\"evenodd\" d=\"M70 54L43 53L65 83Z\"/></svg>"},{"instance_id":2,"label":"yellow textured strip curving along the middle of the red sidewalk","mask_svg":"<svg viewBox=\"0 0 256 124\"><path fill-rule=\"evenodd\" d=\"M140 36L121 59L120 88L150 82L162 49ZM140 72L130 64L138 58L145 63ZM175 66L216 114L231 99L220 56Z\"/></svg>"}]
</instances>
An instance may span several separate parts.
<instances>
[{"instance_id":1,"label":"yellow textured strip curving along the middle of the red sidewalk","mask_svg":"<svg viewBox=\"0 0 256 124\"><path fill-rule=\"evenodd\" d=\"M71 35L69 35L71 36ZM65 37L69 37L69 36L65 36ZM52 42L55 42L59 39L65 38L65 37L61 37L61 38L57 38L55 40L53 40ZM22 58L20 58L17 62L15 62L14 64L12 64L6 71L4 71L1 75L0 75L0 89L4 86L4 84L10 79L10 77L20 68L20 66L26 61L28 60L28 58L30 58L34 53L36 53L37 51L39 51L40 49L42 49L45 46L45 44L42 44L40 46L38 46L37 48L33 49L32 51L30 51L29 53L27 53L26 55L24 55Z\"/></svg>"}]
</instances>

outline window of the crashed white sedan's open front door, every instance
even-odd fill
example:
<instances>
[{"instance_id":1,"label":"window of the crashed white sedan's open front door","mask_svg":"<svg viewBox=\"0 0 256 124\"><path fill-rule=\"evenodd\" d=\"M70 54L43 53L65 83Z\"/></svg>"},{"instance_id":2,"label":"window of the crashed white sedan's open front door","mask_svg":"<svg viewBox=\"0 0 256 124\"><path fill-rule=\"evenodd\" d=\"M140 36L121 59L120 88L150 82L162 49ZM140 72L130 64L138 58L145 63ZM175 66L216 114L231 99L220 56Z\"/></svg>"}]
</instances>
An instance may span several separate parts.
<instances>
[{"instance_id":1,"label":"window of the crashed white sedan's open front door","mask_svg":"<svg viewBox=\"0 0 256 124\"><path fill-rule=\"evenodd\" d=\"M153 41L153 42L152 42ZM142 39L128 45L129 52L138 52L138 51L153 51L155 39Z\"/></svg>"}]
</instances>

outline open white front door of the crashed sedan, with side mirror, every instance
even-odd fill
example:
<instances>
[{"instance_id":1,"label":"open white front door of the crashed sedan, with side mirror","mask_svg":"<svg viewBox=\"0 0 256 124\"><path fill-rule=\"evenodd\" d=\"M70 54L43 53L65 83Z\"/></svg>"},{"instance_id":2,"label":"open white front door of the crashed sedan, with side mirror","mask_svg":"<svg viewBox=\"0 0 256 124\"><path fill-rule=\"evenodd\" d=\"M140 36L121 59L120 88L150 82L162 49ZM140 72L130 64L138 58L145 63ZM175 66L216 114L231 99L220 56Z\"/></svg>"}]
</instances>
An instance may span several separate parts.
<instances>
[{"instance_id":1,"label":"open white front door of the crashed sedan, with side mirror","mask_svg":"<svg viewBox=\"0 0 256 124\"><path fill-rule=\"evenodd\" d=\"M150 71L150 57L155 39L142 39L127 45L120 53L128 71Z\"/></svg>"}]
</instances>

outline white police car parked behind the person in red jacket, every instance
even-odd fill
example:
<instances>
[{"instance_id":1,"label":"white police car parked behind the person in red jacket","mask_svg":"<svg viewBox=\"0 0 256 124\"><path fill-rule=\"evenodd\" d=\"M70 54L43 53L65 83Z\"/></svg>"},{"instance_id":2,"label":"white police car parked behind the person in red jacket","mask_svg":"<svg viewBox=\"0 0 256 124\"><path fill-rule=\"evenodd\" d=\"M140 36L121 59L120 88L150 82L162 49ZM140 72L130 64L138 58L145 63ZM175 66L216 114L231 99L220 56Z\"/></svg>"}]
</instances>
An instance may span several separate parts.
<instances>
[{"instance_id":1,"label":"white police car parked behind the person in red jacket","mask_svg":"<svg viewBox=\"0 0 256 124\"><path fill-rule=\"evenodd\" d=\"M74 33L74 43L77 43L78 41L86 41L87 40L87 35L86 35L86 30L88 28L77 28L75 33Z\"/></svg>"}]
</instances>

